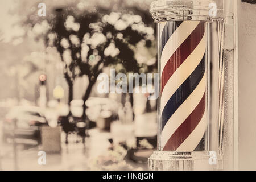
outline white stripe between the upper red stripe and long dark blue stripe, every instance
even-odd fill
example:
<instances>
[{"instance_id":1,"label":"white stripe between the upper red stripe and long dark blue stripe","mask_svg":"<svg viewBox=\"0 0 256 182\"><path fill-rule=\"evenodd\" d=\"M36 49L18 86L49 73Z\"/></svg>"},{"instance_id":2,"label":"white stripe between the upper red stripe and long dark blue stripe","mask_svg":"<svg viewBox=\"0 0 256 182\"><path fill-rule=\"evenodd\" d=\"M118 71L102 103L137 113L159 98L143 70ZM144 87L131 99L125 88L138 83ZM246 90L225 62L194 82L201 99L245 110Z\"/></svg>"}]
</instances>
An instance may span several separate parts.
<instances>
[{"instance_id":1,"label":"white stripe between the upper red stripe and long dark blue stripe","mask_svg":"<svg viewBox=\"0 0 256 182\"><path fill-rule=\"evenodd\" d=\"M161 94L161 105L160 111L163 112L164 106L167 104L168 100L172 97L172 95L176 92L176 90L180 87L181 84L191 75L191 73L196 69L197 65L199 65L202 60L206 43L205 43L204 34L202 40L197 45L195 50L187 57L187 59L180 65L179 68L174 72L171 78L167 81L164 86L163 93Z\"/></svg>"}]
</instances>

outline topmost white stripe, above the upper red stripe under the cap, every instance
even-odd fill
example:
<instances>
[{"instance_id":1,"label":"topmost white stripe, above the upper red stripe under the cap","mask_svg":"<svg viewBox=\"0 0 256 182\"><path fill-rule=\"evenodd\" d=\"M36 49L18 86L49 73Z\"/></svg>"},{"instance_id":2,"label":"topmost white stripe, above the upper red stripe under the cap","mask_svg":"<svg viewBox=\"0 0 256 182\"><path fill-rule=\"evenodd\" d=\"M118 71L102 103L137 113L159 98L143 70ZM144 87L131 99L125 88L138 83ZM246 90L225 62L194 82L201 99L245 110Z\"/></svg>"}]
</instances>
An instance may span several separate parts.
<instances>
[{"instance_id":1,"label":"topmost white stripe, above the upper red stripe under the cap","mask_svg":"<svg viewBox=\"0 0 256 182\"><path fill-rule=\"evenodd\" d=\"M174 34L167 41L166 45L162 50L161 56L161 74L163 72L164 66L170 57L174 54L177 48L188 38L188 36L195 30L199 21L184 21L175 30Z\"/></svg>"}]
</instances>

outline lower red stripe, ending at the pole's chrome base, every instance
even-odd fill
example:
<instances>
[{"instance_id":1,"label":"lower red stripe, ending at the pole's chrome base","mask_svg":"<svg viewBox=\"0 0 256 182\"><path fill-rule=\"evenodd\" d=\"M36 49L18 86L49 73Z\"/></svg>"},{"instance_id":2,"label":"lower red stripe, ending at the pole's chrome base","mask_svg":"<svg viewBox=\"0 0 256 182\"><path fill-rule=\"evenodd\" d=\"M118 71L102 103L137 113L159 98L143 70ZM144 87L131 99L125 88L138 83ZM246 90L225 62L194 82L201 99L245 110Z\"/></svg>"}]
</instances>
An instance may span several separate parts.
<instances>
[{"instance_id":1,"label":"lower red stripe, ending at the pole's chrome base","mask_svg":"<svg viewBox=\"0 0 256 182\"><path fill-rule=\"evenodd\" d=\"M196 109L188 116L187 119L179 126L171 138L167 141L164 146L164 151L176 151L177 148L188 138L188 136L195 130L203 118L205 111L205 94Z\"/></svg>"}]
</instances>

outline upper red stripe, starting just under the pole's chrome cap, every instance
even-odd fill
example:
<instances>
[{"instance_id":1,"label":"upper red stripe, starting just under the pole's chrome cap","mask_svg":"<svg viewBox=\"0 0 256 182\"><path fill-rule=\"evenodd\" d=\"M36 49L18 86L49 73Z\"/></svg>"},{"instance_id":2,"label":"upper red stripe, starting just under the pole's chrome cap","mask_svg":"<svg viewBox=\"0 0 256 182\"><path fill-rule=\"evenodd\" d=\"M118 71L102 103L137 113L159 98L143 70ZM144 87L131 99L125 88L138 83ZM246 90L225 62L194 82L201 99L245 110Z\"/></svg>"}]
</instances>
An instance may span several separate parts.
<instances>
[{"instance_id":1,"label":"upper red stripe, starting just under the pole's chrome cap","mask_svg":"<svg viewBox=\"0 0 256 182\"><path fill-rule=\"evenodd\" d=\"M193 50L200 43L201 39L204 36L204 23L200 22L195 30L188 36L188 38L181 44L179 48L174 52L171 58L167 61L164 66L162 73L162 91L164 86L166 86L167 81L174 74L177 68L187 59L189 55L193 52ZM174 42L175 44L175 42Z\"/></svg>"}]
</instances>

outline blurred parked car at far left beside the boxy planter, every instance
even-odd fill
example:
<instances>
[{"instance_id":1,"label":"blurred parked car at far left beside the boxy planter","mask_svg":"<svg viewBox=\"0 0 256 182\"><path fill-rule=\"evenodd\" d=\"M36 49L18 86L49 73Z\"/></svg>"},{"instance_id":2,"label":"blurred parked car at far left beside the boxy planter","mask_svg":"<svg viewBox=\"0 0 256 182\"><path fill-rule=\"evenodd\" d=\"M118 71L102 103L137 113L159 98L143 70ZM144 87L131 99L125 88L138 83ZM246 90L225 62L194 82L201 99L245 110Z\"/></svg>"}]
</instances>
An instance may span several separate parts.
<instances>
[{"instance_id":1,"label":"blurred parked car at far left beside the boxy planter","mask_svg":"<svg viewBox=\"0 0 256 182\"><path fill-rule=\"evenodd\" d=\"M3 141L22 139L25 144L29 140L41 143L41 127L46 126L47 120L40 107L15 106L6 114L3 122Z\"/></svg>"}]
</instances>

